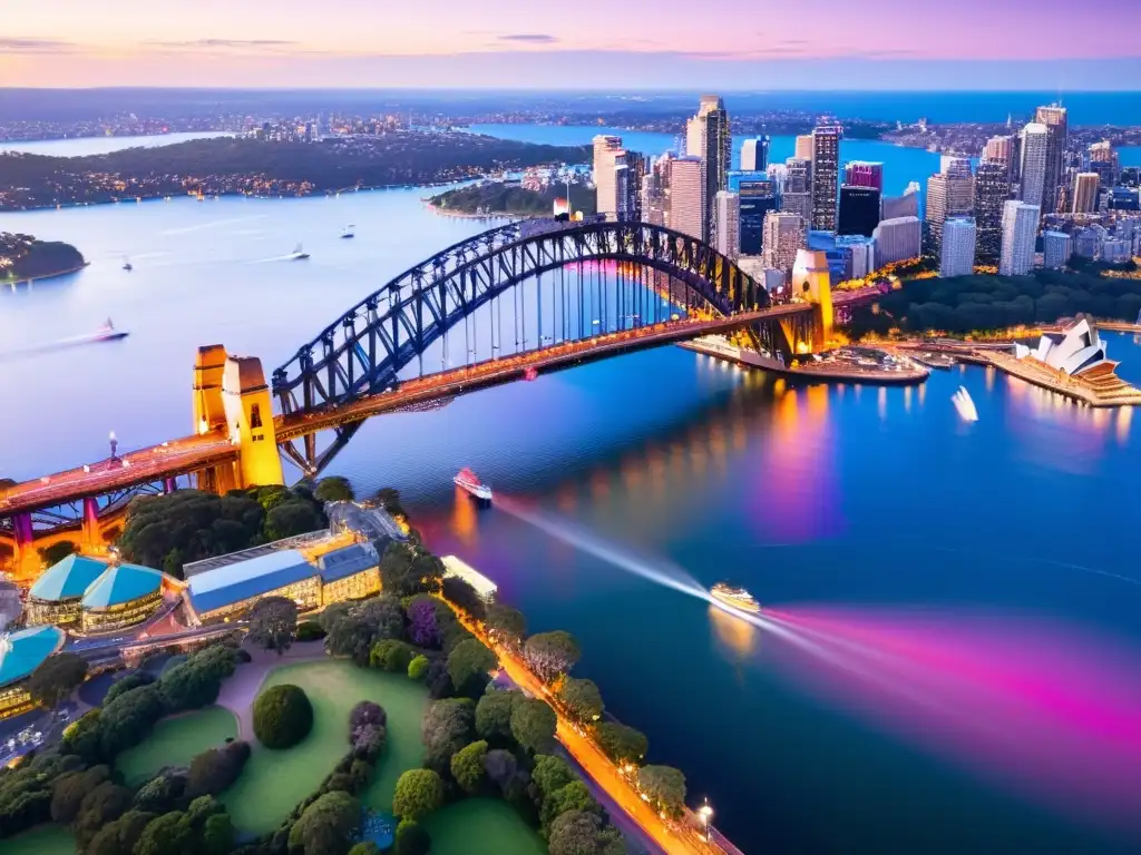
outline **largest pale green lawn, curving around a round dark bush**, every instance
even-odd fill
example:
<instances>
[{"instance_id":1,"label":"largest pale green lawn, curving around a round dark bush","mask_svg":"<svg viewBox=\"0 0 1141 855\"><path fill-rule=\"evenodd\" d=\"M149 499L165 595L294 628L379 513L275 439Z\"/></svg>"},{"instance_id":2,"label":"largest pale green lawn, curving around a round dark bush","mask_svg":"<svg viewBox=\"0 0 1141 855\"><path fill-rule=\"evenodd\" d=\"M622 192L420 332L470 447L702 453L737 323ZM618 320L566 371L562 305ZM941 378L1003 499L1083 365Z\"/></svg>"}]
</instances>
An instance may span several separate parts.
<instances>
[{"instance_id":1,"label":"largest pale green lawn, curving around a round dark bush","mask_svg":"<svg viewBox=\"0 0 1141 855\"><path fill-rule=\"evenodd\" d=\"M423 759L420 723L428 706L427 690L402 674L337 660L276 668L262 691L282 683L301 686L309 695L313 732L285 751L254 746L242 776L221 796L234 824L257 834L272 831L313 792L348 751L349 710L362 700L374 701L388 712L388 746L362 800L369 807L391 811L396 779Z\"/></svg>"}]
</instances>

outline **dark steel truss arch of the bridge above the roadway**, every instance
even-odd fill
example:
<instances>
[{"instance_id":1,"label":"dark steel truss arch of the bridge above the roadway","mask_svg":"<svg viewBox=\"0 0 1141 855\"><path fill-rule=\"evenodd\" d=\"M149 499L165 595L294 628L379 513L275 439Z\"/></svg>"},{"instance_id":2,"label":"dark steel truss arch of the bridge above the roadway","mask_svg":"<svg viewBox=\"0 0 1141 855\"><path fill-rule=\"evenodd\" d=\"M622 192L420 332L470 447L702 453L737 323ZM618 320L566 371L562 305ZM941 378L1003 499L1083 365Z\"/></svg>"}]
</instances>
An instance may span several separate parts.
<instances>
[{"instance_id":1,"label":"dark steel truss arch of the bridge above the roadway","mask_svg":"<svg viewBox=\"0 0 1141 855\"><path fill-rule=\"evenodd\" d=\"M454 244L405 270L273 373L283 414L313 412L396 384L450 328L515 285L560 267L624 261L685 283L720 315L770 306L768 293L701 239L646 222L517 223Z\"/></svg>"}]
</instances>

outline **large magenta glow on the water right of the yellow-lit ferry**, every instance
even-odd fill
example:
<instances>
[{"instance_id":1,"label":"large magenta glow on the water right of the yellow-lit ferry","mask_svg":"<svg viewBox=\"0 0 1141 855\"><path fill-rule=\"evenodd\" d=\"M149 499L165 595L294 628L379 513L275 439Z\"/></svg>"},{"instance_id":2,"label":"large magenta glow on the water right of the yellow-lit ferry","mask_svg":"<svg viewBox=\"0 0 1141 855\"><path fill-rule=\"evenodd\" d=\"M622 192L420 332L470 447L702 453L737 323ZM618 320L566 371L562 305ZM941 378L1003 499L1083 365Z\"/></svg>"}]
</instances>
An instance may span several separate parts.
<instances>
[{"instance_id":1,"label":"large magenta glow on the water right of the yellow-lit ferry","mask_svg":"<svg viewBox=\"0 0 1141 855\"><path fill-rule=\"evenodd\" d=\"M768 612L831 700L1025 796L1141 836L1141 657L1018 619ZM808 654L806 654L808 652Z\"/></svg>"}]
</instances>

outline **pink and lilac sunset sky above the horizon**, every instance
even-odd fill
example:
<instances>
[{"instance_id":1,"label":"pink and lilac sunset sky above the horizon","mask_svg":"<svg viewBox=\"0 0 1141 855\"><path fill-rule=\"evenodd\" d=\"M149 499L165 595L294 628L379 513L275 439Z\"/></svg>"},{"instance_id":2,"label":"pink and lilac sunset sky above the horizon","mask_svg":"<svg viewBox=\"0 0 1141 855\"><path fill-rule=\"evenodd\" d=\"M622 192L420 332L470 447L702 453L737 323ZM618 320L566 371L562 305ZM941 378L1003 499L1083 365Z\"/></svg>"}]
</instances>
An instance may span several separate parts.
<instances>
[{"instance_id":1,"label":"pink and lilac sunset sky above the horizon","mask_svg":"<svg viewBox=\"0 0 1141 855\"><path fill-rule=\"evenodd\" d=\"M1141 80L1141 0L14 0L2 22L8 87L1076 90Z\"/></svg>"}]
</instances>

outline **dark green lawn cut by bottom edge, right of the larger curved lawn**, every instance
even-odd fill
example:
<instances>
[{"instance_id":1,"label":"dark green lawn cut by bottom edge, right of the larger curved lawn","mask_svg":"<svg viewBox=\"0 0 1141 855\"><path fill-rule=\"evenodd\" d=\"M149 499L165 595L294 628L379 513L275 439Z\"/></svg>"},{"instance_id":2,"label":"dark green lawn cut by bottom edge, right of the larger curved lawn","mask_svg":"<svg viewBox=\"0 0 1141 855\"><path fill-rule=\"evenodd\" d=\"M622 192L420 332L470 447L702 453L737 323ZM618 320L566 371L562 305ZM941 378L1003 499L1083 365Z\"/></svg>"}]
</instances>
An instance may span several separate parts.
<instances>
[{"instance_id":1,"label":"dark green lawn cut by bottom edge, right of the larger curved lawn","mask_svg":"<svg viewBox=\"0 0 1141 855\"><path fill-rule=\"evenodd\" d=\"M432 855L547 855L547 844L501 799L464 799L424 822Z\"/></svg>"}]
</instances>

